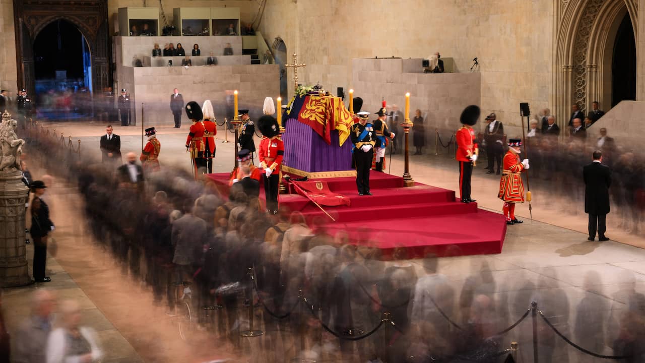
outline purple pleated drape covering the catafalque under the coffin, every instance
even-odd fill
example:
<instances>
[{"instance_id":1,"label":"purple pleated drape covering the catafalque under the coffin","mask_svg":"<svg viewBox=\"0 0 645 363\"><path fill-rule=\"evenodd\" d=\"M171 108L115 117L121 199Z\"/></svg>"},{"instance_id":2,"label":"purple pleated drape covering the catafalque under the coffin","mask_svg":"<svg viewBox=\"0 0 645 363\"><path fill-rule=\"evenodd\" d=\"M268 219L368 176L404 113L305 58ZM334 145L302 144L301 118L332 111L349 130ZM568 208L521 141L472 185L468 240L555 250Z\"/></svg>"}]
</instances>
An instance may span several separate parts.
<instances>
[{"instance_id":1,"label":"purple pleated drape covering the catafalque under the coffin","mask_svg":"<svg viewBox=\"0 0 645 363\"><path fill-rule=\"evenodd\" d=\"M297 119L286 122L283 164L306 172L352 170L352 141L338 147L338 131L332 130L332 145Z\"/></svg>"}]
</instances>

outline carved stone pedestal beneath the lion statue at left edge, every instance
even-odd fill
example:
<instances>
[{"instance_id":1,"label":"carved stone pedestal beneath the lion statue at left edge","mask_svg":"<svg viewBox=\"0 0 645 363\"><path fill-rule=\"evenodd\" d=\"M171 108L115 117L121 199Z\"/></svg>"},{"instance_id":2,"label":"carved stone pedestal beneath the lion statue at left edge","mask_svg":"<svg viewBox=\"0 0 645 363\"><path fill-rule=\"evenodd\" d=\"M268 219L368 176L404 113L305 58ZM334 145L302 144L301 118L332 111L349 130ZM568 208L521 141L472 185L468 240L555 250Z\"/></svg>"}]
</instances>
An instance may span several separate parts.
<instances>
[{"instance_id":1,"label":"carved stone pedestal beneath the lion statue at left edge","mask_svg":"<svg viewBox=\"0 0 645 363\"><path fill-rule=\"evenodd\" d=\"M20 171L0 171L0 287L32 283L25 249L25 203L29 189Z\"/></svg>"}]
</instances>

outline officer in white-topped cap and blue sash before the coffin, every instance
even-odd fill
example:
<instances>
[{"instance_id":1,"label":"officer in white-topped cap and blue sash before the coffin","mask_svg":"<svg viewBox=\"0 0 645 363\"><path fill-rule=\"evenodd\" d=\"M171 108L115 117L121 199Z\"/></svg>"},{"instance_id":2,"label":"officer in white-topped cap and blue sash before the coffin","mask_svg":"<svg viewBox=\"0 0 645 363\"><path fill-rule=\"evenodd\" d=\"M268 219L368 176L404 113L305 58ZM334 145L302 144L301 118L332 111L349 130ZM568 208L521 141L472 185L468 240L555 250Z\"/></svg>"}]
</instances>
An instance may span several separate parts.
<instances>
[{"instance_id":1,"label":"officer in white-topped cap and blue sash before the coffin","mask_svg":"<svg viewBox=\"0 0 645 363\"><path fill-rule=\"evenodd\" d=\"M367 122L370 112L359 112L359 123L352 126L350 137L354 148L352 153L356 165L356 186L359 195L372 195L370 192L370 167L374 156L374 145L376 145L376 135L371 123Z\"/></svg>"}]
</instances>

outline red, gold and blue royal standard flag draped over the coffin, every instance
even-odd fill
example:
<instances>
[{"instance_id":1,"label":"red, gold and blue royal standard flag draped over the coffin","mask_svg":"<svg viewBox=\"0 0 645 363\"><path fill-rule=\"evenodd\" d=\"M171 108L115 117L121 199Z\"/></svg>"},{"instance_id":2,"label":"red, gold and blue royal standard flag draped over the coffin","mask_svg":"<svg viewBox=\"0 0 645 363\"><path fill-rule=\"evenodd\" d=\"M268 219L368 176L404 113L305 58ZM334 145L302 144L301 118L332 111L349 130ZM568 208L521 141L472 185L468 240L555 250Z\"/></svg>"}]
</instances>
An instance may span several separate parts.
<instances>
[{"instance_id":1,"label":"red, gold and blue royal standard flag draped over the coffin","mask_svg":"<svg viewBox=\"0 0 645 363\"><path fill-rule=\"evenodd\" d=\"M297 117L296 117L297 115ZM295 96L289 103L283 119L294 118L311 127L331 145L330 132L338 130L339 146L350 136L352 115L345 108L342 98L320 96L318 92Z\"/></svg>"}]
</instances>

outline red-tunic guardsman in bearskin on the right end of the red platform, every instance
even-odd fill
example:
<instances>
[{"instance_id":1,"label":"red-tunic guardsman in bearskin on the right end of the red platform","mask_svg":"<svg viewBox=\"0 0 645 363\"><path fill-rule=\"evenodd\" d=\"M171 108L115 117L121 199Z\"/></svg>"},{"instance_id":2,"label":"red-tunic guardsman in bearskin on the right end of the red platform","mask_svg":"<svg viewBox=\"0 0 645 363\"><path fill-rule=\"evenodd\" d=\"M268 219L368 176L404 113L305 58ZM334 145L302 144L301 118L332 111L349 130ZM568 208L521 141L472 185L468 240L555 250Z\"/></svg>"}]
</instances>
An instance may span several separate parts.
<instances>
[{"instance_id":1,"label":"red-tunic guardsman in bearskin on the right end of the red platform","mask_svg":"<svg viewBox=\"0 0 645 363\"><path fill-rule=\"evenodd\" d=\"M472 128L477 123L479 114L479 107L475 105L466 107L459 118L462 127L457 130L457 136L455 137L457 140L455 159L459 161L459 196L462 203L476 202L473 198L470 198L470 178L479 154L477 136Z\"/></svg>"}]
</instances>

